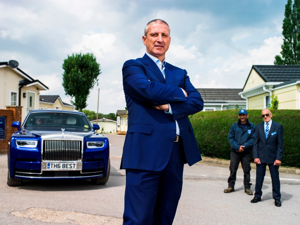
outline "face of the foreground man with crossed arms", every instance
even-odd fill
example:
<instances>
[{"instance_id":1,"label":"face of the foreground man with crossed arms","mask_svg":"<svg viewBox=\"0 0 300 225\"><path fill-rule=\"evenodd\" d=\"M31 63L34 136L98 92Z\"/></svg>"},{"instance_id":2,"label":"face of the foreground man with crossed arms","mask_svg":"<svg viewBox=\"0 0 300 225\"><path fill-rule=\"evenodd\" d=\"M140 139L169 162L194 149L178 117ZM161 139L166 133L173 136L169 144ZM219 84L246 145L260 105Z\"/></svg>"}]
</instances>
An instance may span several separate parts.
<instances>
[{"instance_id":1,"label":"face of the foreground man with crossed arms","mask_svg":"<svg viewBox=\"0 0 300 225\"><path fill-rule=\"evenodd\" d=\"M169 49L170 41L171 37L168 26L160 22L150 25L147 36L143 36L146 51L161 62L164 60L166 51Z\"/></svg>"}]
</instances>

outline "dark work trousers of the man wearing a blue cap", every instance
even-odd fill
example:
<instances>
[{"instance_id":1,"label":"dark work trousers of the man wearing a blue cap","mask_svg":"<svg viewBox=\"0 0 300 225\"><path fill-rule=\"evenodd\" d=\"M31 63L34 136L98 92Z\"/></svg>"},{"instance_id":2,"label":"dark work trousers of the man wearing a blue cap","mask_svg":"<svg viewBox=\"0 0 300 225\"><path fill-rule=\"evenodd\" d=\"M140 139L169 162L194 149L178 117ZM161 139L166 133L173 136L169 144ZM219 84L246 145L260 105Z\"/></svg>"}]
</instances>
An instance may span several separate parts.
<instances>
[{"instance_id":1,"label":"dark work trousers of the man wearing a blue cap","mask_svg":"<svg viewBox=\"0 0 300 225\"><path fill-rule=\"evenodd\" d=\"M240 162L244 171L244 187L245 189L250 189L251 153L245 151L231 151L229 166L230 176L228 178L228 187L234 188L235 181L237 180L237 169Z\"/></svg>"}]
</instances>

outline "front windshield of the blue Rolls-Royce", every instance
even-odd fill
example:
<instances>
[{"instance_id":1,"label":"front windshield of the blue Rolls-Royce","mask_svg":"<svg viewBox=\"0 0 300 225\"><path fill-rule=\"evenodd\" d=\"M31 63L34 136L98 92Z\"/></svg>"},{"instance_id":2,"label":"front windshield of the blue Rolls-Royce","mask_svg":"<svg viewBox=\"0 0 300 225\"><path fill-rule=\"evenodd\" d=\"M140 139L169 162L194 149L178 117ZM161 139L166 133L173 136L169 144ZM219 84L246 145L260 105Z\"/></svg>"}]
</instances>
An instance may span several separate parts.
<instances>
[{"instance_id":1,"label":"front windshield of the blue Rolls-Royce","mask_svg":"<svg viewBox=\"0 0 300 225\"><path fill-rule=\"evenodd\" d=\"M27 117L23 127L58 127L78 128L92 130L92 127L84 115L70 112L32 112Z\"/></svg>"}]
</instances>

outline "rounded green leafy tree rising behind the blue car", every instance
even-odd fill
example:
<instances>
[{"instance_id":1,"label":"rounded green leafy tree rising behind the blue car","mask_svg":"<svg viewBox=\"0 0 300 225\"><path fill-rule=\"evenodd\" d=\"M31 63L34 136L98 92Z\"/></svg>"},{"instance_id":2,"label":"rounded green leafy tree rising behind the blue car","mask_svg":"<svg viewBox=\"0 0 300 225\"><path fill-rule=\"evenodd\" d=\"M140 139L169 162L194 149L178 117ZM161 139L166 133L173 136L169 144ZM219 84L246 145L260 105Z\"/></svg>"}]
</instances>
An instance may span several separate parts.
<instances>
[{"instance_id":1,"label":"rounded green leafy tree rising behind the blue car","mask_svg":"<svg viewBox=\"0 0 300 225\"><path fill-rule=\"evenodd\" d=\"M95 84L98 85L98 76L100 72L100 64L97 63L92 53L72 54L63 61L63 88L66 95L75 98L71 103L78 111L82 111L87 107L87 98L90 89Z\"/></svg>"}]
</instances>

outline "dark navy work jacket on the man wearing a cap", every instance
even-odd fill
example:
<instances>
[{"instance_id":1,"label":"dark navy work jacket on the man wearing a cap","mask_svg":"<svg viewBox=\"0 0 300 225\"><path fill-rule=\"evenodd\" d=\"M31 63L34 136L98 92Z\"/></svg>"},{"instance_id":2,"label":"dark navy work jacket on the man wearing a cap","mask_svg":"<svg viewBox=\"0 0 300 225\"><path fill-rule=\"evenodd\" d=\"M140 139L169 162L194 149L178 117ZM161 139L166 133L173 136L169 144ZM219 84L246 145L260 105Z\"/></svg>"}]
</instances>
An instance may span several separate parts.
<instances>
[{"instance_id":1,"label":"dark navy work jacket on the man wearing a cap","mask_svg":"<svg viewBox=\"0 0 300 225\"><path fill-rule=\"evenodd\" d=\"M243 149L250 152L253 149L255 125L247 119L247 123L242 129L241 121L231 125L228 133L228 141L231 146L231 151L238 151L240 146L245 146Z\"/></svg>"}]
</instances>

